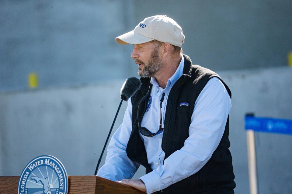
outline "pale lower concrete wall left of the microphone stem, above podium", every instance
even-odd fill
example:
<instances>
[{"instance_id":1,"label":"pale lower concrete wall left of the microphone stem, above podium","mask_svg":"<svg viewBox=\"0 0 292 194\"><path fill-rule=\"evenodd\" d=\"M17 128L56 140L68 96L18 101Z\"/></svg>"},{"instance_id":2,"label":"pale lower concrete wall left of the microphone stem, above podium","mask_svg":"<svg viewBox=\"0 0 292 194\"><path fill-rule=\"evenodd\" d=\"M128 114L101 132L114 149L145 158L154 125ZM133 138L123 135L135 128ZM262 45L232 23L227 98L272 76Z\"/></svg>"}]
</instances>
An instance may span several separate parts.
<instances>
[{"instance_id":1,"label":"pale lower concrete wall left of the microphone stem, above podium","mask_svg":"<svg viewBox=\"0 0 292 194\"><path fill-rule=\"evenodd\" d=\"M1 176L19 175L42 154L59 158L68 175L93 175L122 83L1 94Z\"/></svg>"}]
</instances>

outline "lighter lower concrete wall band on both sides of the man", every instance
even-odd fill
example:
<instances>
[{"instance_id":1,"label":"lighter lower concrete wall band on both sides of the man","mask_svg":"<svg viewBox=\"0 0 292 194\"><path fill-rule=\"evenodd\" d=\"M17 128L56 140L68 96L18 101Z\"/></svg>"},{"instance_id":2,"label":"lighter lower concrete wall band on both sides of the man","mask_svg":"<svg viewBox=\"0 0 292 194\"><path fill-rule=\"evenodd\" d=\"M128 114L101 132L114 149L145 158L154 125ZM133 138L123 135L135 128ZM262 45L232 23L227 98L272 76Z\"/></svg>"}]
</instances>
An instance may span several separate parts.
<instances>
[{"instance_id":1,"label":"lighter lower concrete wall band on both sides of the man","mask_svg":"<svg viewBox=\"0 0 292 194\"><path fill-rule=\"evenodd\" d=\"M292 68L221 71L232 91L231 153L238 194L248 193L244 115L292 119ZM19 176L35 156L62 161L68 175L92 175L123 80L0 94L0 176ZM122 105L114 130L123 118ZM292 136L256 133L259 193L292 190ZM104 163L104 159L102 164ZM144 174L140 168L136 178Z\"/></svg>"}]
</instances>

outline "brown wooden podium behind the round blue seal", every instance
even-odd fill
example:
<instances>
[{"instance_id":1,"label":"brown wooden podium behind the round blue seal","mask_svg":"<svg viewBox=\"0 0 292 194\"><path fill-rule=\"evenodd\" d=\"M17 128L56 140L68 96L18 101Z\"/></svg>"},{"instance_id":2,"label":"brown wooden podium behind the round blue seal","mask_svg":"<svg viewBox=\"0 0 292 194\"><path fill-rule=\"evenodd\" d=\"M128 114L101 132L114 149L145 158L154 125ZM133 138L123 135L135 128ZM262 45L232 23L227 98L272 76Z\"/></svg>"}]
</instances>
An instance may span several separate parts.
<instances>
[{"instance_id":1,"label":"brown wooden podium behind the round blue seal","mask_svg":"<svg viewBox=\"0 0 292 194\"><path fill-rule=\"evenodd\" d=\"M16 194L19 176L0 176L0 193ZM133 187L99 176L68 176L68 194L142 194Z\"/></svg>"}]
</instances>

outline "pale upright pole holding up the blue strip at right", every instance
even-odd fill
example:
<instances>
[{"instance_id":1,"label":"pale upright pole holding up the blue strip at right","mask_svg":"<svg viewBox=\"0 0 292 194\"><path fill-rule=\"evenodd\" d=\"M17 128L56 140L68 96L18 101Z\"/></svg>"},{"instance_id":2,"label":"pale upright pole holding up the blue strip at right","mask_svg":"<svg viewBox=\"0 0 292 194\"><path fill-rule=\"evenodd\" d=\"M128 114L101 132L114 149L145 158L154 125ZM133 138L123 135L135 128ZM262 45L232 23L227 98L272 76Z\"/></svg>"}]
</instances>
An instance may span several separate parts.
<instances>
[{"instance_id":1,"label":"pale upright pole holding up the blue strip at right","mask_svg":"<svg viewBox=\"0 0 292 194\"><path fill-rule=\"evenodd\" d=\"M257 175L256 175L256 156L255 156L255 132L252 129L246 130L247 153L249 161L249 191L250 194L258 193Z\"/></svg>"}]
</instances>

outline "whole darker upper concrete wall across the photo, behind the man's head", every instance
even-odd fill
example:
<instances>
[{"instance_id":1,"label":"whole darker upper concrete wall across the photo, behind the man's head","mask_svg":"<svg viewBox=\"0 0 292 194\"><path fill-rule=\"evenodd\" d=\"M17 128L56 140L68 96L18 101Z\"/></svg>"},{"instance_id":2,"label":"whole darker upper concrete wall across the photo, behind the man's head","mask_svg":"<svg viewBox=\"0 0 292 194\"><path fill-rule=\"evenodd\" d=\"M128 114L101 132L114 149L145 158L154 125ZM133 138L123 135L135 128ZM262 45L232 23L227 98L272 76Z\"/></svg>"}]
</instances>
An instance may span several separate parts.
<instances>
[{"instance_id":1,"label":"whole darker upper concrete wall across the photo, behind the man's head","mask_svg":"<svg viewBox=\"0 0 292 194\"><path fill-rule=\"evenodd\" d=\"M124 79L137 70L115 37L166 14L195 64L214 70L286 66L292 3L266 1L0 1L0 90ZM111 76L109 76L111 75Z\"/></svg>"}]
</instances>

